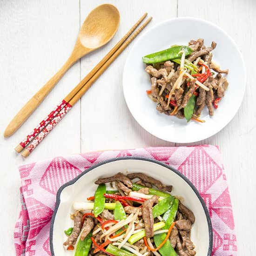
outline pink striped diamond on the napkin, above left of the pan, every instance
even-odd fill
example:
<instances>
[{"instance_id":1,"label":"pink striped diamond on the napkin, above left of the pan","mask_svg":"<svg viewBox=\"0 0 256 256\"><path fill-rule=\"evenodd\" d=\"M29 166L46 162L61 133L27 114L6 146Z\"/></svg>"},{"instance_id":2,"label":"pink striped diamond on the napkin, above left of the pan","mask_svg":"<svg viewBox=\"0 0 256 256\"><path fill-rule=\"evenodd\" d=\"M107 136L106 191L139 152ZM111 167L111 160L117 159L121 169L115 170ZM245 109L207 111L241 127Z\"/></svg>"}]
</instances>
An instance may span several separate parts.
<instances>
[{"instance_id":1,"label":"pink striped diamond on the napkin, above left of the pan","mask_svg":"<svg viewBox=\"0 0 256 256\"><path fill-rule=\"evenodd\" d=\"M56 157L50 162L40 179L40 186L52 194L56 194L61 185L71 181L81 170L63 157Z\"/></svg>"}]
</instances>

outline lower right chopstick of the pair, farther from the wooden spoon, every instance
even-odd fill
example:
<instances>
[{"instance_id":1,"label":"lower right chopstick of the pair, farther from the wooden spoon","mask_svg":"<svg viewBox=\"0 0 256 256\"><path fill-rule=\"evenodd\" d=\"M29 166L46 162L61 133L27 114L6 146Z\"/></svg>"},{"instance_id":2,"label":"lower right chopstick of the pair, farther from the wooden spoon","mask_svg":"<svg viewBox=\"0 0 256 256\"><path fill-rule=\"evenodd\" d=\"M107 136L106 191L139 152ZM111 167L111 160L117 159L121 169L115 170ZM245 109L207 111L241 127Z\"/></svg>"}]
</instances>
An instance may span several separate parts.
<instances>
[{"instance_id":1,"label":"lower right chopstick of the pair, farther from the wooden spoon","mask_svg":"<svg viewBox=\"0 0 256 256\"><path fill-rule=\"evenodd\" d=\"M100 67L100 69L91 77L91 79L85 83L82 88L74 94L69 102L61 109L61 111L54 116L45 128L40 132L38 136L34 138L29 146L27 146L22 152L22 156L27 157L38 146L38 144L47 136L47 134L61 121L61 119L67 114L67 112L74 106L74 104L82 97L82 95L91 87L100 75L109 67L109 65L121 54L121 52L135 39L135 37L148 25L152 20L150 17L146 20L141 27L139 27L134 34L131 35L121 46L115 51L115 53ZM73 89L74 90L74 89Z\"/></svg>"}]
</instances>

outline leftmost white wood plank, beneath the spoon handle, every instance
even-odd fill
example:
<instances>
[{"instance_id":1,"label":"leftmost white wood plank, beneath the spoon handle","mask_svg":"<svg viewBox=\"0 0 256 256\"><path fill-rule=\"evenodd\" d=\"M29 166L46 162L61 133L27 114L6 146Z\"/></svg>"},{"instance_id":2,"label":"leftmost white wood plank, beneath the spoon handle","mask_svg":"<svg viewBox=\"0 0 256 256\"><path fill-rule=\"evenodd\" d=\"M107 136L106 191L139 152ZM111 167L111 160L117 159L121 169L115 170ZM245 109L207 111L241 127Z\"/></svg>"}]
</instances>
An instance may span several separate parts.
<instances>
[{"instance_id":1,"label":"leftmost white wood plank, beneath the spoon handle","mask_svg":"<svg viewBox=\"0 0 256 256\"><path fill-rule=\"evenodd\" d=\"M51 78L71 53L80 28L79 0L0 1L0 240L3 255L14 255L13 228L20 211L18 166L54 155L80 152L80 106L70 111L27 158L14 147L80 81L80 63L72 67L53 92L16 134L3 132L16 112Z\"/></svg>"}]
</instances>

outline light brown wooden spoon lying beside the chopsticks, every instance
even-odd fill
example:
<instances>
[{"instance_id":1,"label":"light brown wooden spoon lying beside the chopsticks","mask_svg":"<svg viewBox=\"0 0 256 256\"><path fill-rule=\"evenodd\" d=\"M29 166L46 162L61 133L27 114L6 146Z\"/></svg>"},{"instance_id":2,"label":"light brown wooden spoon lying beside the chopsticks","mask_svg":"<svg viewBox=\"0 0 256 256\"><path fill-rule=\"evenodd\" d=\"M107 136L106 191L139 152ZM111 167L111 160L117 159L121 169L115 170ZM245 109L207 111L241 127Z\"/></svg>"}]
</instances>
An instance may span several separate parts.
<instances>
[{"instance_id":1,"label":"light brown wooden spoon lying beside the chopsticks","mask_svg":"<svg viewBox=\"0 0 256 256\"><path fill-rule=\"evenodd\" d=\"M76 61L108 43L115 35L119 22L119 11L113 5L103 4L92 10L81 27L73 52L66 63L14 116L6 128L4 136L9 137L20 128Z\"/></svg>"}]
</instances>

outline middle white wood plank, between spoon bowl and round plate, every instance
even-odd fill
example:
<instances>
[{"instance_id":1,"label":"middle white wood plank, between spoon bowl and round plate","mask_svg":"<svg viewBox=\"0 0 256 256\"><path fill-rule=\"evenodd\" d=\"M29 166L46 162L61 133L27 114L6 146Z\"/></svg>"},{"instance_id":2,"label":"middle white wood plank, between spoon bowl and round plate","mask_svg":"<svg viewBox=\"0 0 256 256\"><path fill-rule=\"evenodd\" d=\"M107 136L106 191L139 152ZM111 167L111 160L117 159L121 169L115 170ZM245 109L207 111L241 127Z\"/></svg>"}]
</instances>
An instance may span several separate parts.
<instances>
[{"instance_id":1,"label":"middle white wood plank, between spoon bowl and round plate","mask_svg":"<svg viewBox=\"0 0 256 256\"><path fill-rule=\"evenodd\" d=\"M85 17L90 9L102 3L105 3L105 1L81 1L81 22L82 17ZM110 0L108 3L114 4L119 9L121 15L120 27L113 40L106 47L90 54L89 58L84 58L81 61L82 77L108 53L108 50L127 33L143 13L148 12L148 16L153 16L153 20L145 31L156 23L173 18L176 15L176 1L165 0L162 1L161 5L154 0ZM102 74L101 78L82 98L81 150L83 152L100 148L115 149L170 145L170 143L145 132L134 120L124 101L122 72L132 45L133 43Z\"/></svg>"}]
</instances>

